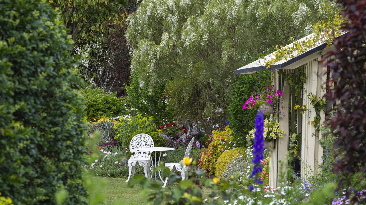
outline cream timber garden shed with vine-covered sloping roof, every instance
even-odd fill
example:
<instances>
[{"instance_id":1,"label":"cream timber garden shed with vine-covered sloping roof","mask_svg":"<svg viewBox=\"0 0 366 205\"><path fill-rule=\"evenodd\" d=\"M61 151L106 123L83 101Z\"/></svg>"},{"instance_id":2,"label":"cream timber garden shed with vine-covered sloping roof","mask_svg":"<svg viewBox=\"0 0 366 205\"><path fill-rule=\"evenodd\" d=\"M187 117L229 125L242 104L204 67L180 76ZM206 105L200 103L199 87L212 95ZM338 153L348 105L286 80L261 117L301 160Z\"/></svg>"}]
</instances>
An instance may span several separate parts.
<instances>
[{"instance_id":1,"label":"cream timber garden shed with vine-covered sloping roof","mask_svg":"<svg viewBox=\"0 0 366 205\"><path fill-rule=\"evenodd\" d=\"M322 39L319 36L324 34L310 34L283 47L282 51L286 51L287 54L284 52L285 54L279 56L280 52L275 51L235 70L235 74L271 70L275 90L281 90L283 93L283 103L279 104L277 109L282 109L283 117L278 123L286 135L273 140L269 149L269 185L273 187L278 186L280 161L286 163L289 136L292 134L295 133L298 138L295 154L299 160L298 165L293 166L300 177L307 178L316 174L317 165L322 162L323 149L319 145L322 135L319 125L323 124L325 119L325 99L322 97L326 93L326 80L329 78L329 74L325 74L327 67L324 66L323 60L326 61L324 55L332 50L333 46L329 46L329 38Z\"/></svg>"}]
</instances>

